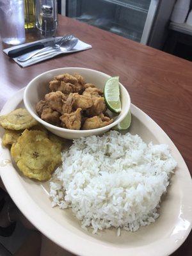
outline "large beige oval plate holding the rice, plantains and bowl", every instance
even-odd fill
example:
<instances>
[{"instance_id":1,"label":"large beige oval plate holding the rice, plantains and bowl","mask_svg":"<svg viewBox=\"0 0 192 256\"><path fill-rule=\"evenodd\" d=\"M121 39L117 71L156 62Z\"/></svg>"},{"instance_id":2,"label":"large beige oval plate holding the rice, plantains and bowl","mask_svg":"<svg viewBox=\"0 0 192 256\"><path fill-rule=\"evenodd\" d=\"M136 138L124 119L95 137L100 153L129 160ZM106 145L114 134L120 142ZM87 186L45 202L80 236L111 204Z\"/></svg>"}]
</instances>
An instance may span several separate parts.
<instances>
[{"instance_id":1,"label":"large beige oval plate holding the rice, plantains and bowl","mask_svg":"<svg viewBox=\"0 0 192 256\"><path fill-rule=\"evenodd\" d=\"M24 106L23 92L20 90L6 102L1 115ZM168 144L178 166L168 193L161 202L157 221L136 232L123 230L120 237L116 236L115 228L93 235L82 230L70 209L61 211L58 207L51 208L49 182L35 182L22 176L12 164L10 151L0 148L1 179L17 207L45 236L77 255L169 255L179 248L191 230L192 182L184 159L170 138L149 116L134 105L131 112L130 132L139 134L145 142ZM1 128L1 137L3 132Z\"/></svg>"}]
</instances>

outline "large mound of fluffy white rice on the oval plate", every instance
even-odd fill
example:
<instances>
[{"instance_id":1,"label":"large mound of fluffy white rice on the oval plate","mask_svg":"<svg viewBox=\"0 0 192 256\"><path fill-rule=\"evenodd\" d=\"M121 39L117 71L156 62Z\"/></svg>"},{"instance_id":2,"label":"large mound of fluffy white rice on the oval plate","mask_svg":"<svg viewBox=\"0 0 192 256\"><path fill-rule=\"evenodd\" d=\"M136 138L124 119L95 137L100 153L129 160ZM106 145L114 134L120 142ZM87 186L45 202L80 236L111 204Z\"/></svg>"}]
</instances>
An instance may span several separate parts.
<instances>
[{"instance_id":1,"label":"large mound of fluffy white rice on the oval plate","mask_svg":"<svg viewBox=\"0 0 192 256\"><path fill-rule=\"evenodd\" d=\"M50 182L52 207L72 208L82 227L136 231L158 218L177 163L167 145L110 131L74 140Z\"/></svg>"}]
</instances>

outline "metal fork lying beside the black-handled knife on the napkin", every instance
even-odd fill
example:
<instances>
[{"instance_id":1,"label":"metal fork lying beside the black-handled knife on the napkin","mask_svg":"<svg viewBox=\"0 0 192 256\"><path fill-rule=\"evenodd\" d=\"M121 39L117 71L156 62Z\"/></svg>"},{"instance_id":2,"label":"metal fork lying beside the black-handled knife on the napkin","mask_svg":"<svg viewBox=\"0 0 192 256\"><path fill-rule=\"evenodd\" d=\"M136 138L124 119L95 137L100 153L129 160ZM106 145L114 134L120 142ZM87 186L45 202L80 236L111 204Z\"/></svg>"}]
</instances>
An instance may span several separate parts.
<instances>
[{"instance_id":1,"label":"metal fork lying beside the black-handled knife on the napkin","mask_svg":"<svg viewBox=\"0 0 192 256\"><path fill-rule=\"evenodd\" d=\"M62 38L60 38L59 40L57 40L56 42L54 42L54 45L45 47L45 48L37 50L37 51L29 52L29 53L24 54L22 56L19 56L19 57L17 57L17 60L19 60L21 62L24 62L24 61L27 61L27 60L33 58L37 54L42 53L42 54L40 54L40 56L41 56L41 55L47 54L48 52L50 53L50 52L59 50L61 45L64 42L68 42L69 40L72 40L74 38L76 38L74 35L65 35Z\"/></svg>"}]
</instances>

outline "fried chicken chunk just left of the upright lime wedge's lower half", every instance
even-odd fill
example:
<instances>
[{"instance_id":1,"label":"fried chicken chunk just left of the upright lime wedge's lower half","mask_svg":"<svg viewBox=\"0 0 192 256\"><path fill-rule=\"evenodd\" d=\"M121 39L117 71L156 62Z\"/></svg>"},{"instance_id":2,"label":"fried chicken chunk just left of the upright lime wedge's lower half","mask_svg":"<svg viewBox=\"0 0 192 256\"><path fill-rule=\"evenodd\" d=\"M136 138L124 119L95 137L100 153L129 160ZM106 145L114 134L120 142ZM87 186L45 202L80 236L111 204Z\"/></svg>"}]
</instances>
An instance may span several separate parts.
<instances>
[{"instance_id":1,"label":"fried chicken chunk just left of the upright lime wedge's lower half","mask_svg":"<svg viewBox=\"0 0 192 256\"><path fill-rule=\"evenodd\" d=\"M106 104L104 97L92 97L93 105L91 108L86 110L86 115L96 116L106 111Z\"/></svg>"}]
</instances>

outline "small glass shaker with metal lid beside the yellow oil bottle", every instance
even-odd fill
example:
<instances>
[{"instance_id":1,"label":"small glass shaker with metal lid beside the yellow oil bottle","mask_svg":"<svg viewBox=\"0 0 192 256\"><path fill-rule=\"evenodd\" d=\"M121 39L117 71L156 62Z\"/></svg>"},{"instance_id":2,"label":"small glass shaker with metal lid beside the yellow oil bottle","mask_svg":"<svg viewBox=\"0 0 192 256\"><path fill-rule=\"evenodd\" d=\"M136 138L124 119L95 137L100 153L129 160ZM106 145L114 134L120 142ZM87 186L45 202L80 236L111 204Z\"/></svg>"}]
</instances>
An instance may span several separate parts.
<instances>
[{"instance_id":1,"label":"small glass shaker with metal lid beside the yellow oil bottle","mask_svg":"<svg viewBox=\"0 0 192 256\"><path fill-rule=\"evenodd\" d=\"M44 4L42 6L42 13L40 15L42 18L42 35L45 37L54 36L56 29L52 15L52 6Z\"/></svg>"}]
</instances>

